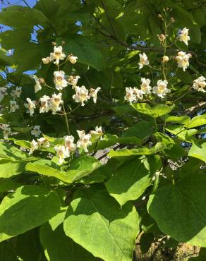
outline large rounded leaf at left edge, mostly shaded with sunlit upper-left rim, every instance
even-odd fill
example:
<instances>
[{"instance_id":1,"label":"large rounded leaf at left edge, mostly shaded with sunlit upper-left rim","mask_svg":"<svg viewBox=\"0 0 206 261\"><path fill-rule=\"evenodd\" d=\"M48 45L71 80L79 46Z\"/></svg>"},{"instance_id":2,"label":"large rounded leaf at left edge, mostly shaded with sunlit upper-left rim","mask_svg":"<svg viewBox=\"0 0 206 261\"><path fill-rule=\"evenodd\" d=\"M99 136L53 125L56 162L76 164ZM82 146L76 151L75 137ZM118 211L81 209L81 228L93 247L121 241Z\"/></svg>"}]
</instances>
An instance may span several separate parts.
<instances>
[{"instance_id":1,"label":"large rounded leaf at left edge, mostly shaded with sunlit upper-left rim","mask_svg":"<svg viewBox=\"0 0 206 261\"><path fill-rule=\"evenodd\" d=\"M59 196L38 186L22 186L0 205L0 242L40 226L60 208Z\"/></svg>"}]
</instances>

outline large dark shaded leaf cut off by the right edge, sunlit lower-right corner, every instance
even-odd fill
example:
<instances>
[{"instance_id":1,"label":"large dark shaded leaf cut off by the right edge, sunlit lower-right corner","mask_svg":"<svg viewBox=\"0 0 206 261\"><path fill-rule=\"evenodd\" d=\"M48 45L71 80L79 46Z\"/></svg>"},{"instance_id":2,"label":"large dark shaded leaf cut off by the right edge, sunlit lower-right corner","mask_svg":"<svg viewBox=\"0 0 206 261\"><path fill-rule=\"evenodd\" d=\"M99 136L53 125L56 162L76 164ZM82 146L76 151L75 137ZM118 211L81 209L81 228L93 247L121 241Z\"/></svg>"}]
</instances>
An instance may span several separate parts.
<instances>
[{"instance_id":1,"label":"large dark shaded leaf cut off by the right edge, sunlit lower-right corner","mask_svg":"<svg viewBox=\"0 0 206 261\"><path fill-rule=\"evenodd\" d=\"M206 176L191 173L157 188L147 210L159 229L178 242L206 247Z\"/></svg>"}]
</instances>

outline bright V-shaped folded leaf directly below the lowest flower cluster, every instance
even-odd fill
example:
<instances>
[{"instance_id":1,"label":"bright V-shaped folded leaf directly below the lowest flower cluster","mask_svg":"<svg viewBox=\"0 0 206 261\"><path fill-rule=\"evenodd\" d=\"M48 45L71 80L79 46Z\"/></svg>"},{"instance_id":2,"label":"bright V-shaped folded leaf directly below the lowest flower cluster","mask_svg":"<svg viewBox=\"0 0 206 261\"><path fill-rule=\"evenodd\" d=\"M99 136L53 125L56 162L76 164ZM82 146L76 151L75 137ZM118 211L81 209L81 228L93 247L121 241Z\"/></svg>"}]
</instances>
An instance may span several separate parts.
<instances>
[{"instance_id":1,"label":"bright V-shaped folded leaf directly below the lowest flower cluster","mask_svg":"<svg viewBox=\"0 0 206 261\"><path fill-rule=\"evenodd\" d=\"M73 183L73 181L89 175L92 171L102 166L102 164L91 156L83 156L75 159L68 171L61 171L59 166L47 159L40 159L39 161L28 163L26 169L34 171L45 176L54 176L66 183Z\"/></svg>"}]
</instances>

